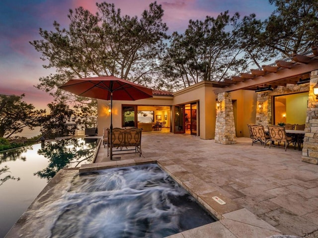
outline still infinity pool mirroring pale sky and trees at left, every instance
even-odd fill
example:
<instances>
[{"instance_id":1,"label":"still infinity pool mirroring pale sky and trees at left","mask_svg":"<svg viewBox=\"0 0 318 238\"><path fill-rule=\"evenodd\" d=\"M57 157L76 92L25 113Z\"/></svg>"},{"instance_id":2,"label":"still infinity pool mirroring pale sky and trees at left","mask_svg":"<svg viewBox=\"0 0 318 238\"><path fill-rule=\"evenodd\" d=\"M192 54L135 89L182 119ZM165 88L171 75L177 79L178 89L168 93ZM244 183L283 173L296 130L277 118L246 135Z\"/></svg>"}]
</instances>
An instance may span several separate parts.
<instances>
[{"instance_id":1,"label":"still infinity pool mirroring pale sky and trees at left","mask_svg":"<svg viewBox=\"0 0 318 238\"><path fill-rule=\"evenodd\" d=\"M70 138L0 153L0 169L8 168L0 179L7 175L20 178L0 185L0 237L5 236L61 168L90 163L97 143L97 139Z\"/></svg>"}]
</instances>

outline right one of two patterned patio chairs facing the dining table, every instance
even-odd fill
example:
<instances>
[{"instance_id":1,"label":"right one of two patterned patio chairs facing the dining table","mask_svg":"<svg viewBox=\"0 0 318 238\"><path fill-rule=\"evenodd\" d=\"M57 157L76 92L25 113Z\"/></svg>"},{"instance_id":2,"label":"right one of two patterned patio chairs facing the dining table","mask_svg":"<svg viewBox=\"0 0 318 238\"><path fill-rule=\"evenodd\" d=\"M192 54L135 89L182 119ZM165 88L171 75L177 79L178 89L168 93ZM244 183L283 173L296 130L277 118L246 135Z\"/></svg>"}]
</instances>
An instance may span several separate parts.
<instances>
[{"instance_id":1,"label":"right one of two patterned patio chairs facing the dining table","mask_svg":"<svg viewBox=\"0 0 318 238\"><path fill-rule=\"evenodd\" d=\"M278 143L278 147L280 146L280 143L284 142L285 151L287 150L287 146L291 143L294 143L294 149L296 148L296 143L293 137L287 136L285 127L282 126L269 126L268 132L270 136L270 143L269 148L271 146L276 146L275 142Z\"/></svg>"}]
</instances>

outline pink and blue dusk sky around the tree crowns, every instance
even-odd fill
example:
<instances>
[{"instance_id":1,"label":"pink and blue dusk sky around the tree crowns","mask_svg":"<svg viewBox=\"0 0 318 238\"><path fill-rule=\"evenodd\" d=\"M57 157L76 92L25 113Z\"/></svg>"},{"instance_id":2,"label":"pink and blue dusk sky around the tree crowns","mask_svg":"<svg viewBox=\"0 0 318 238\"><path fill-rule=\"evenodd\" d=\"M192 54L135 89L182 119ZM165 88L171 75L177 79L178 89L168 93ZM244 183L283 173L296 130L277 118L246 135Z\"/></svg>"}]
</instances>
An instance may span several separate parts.
<instances>
[{"instance_id":1,"label":"pink and blue dusk sky around the tree crowns","mask_svg":"<svg viewBox=\"0 0 318 238\"><path fill-rule=\"evenodd\" d=\"M0 0L0 94L21 95L24 101L37 108L46 108L53 101L47 93L37 89L40 77L54 73L47 70L29 41L40 40L39 28L53 29L56 20L68 27L69 9L83 6L95 13L96 0ZM149 8L151 0L112 0L122 14L140 17ZM207 15L216 17L220 12L238 11L243 17L256 13L258 19L267 18L275 7L268 0L157 0L164 9L163 21L173 31L183 33L189 19L203 20Z\"/></svg>"}]
</instances>

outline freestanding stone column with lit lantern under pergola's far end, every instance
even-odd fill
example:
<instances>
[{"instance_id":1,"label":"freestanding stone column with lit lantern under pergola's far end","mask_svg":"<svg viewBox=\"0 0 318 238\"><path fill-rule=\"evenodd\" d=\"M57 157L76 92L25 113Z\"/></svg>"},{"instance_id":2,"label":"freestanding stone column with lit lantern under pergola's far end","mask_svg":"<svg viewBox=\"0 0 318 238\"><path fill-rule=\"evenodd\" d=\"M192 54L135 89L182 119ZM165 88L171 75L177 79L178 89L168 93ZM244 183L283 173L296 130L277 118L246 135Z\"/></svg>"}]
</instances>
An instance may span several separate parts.
<instances>
[{"instance_id":1,"label":"freestanding stone column with lit lantern under pergola's far end","mask_svg":"<svg viewBox=\"0 0 318 238\"><path fill-rule=\"evenodd\" d=\"M233 104L230 92L218 94L220 108L217 108L215 143L236 144Z\"/></svg>"}]
</instances>

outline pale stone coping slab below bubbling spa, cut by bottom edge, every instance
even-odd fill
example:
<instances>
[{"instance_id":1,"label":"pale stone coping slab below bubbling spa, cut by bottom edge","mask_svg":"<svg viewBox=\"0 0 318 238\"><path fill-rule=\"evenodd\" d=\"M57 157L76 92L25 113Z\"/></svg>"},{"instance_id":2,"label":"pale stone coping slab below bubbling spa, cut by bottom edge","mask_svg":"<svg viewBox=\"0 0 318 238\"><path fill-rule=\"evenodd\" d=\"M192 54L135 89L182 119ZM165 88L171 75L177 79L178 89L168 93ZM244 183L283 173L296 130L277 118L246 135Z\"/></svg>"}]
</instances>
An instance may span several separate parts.
<instances>
[{"instance_id":1,"label":"pale stone coping slab below bubbling spa, cut by bottom edge","mask_svg":"<svg viewBox=\"0 0 318 238\"><path fill-rule=\"evenodd\" d=\"M236 238L221 222L182 232L184 238Z\"/></svg>"}]
</instances>

